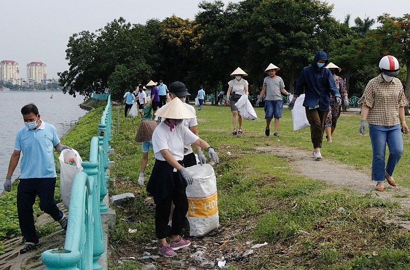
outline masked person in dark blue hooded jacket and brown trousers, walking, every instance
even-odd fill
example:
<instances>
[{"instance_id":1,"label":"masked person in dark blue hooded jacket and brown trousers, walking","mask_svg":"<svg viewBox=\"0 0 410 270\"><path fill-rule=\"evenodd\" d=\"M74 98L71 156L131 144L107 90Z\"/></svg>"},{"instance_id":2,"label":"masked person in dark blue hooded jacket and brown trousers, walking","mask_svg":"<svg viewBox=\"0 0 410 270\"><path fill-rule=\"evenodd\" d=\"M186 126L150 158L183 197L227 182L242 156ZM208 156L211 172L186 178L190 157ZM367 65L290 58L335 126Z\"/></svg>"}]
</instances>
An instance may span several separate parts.
<instances>
[{"instance_id":1,"label":"masked person in dark blue hooded jacket and brown trousers, walking","mask_svg":"<svg viewBox=\"0 0 410 270\"><path fill-rule=\"evenodd\" d=\"M302 70L296 83L295 93L288 105L288 108L292 110L296 99L305 92L303 106L310 124L310 139L314 148L312 157L315 160L322 158L320 148L322 147L324 122L330 106L330 94L336 98L339 106L342 104L335 80L330 70L324 68L327 63L326 52L316 52L311 65Z\"/></svg>"}]
</instances>

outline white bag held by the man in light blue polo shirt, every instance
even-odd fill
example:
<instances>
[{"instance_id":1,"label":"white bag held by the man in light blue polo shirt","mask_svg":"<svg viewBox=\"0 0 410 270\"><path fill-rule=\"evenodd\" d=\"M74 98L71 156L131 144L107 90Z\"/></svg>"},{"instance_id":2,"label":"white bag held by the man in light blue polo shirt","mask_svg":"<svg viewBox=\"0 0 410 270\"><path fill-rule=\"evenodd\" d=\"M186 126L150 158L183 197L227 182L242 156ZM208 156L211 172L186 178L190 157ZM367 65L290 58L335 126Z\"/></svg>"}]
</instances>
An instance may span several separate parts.
<instances>
[{"instance_id":1,"label":"white bag held by the man in light blue polo shirt","mask_svg":"<svg viewBox=\"0 0 410 270\"><path fill-rule=\"evenodd\" d=\"M64 149L58 157L60 161L60 192L65 209L69 210L71 187L74 177L83 170L80 155L75 149Z\"/></svg>"}]
</instances>

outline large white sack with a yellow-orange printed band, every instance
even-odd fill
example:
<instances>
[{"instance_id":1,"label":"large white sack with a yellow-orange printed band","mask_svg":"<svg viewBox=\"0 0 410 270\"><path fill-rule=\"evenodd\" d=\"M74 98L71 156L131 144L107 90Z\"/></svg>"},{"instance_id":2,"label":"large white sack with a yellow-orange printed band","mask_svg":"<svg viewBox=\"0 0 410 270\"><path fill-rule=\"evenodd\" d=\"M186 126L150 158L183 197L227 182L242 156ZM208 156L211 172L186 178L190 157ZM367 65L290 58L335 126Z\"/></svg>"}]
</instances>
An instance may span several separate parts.
<instances>
[{"instance_id":1,"label":"large white sack with a yellow-orange printed band","mask_svg":"<svg viewBox=\"0 0 410 270\"><path fill-rule=\"evenodd\" d=\"M216 178L209 164L186 168L194 177L187 186L189 235L202 236L219 226Z\"/></svg>"}]
</instances>

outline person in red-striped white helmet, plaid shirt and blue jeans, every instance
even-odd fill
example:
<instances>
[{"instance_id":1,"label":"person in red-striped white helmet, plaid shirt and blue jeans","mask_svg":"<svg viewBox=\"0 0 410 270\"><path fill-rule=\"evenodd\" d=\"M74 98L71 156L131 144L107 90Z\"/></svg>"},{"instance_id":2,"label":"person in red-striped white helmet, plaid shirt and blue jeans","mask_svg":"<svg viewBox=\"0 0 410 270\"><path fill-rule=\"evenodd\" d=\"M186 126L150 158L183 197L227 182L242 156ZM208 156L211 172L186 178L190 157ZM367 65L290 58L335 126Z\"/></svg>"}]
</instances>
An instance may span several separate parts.
<instances>
[{"instance_id":1,"label":"person in red-striped white helmet, plaid shirt and blue jeans","mask_svg":"<svg viewBox=\"0 0 410 270\"><path fill-rule=\"evenodd\" d=\"M385 178L390 185L396 186L392 175L403 153L401 132L409 132L404 109L409 102L401 81L396 78L399 74L396 57L384 56L379 71L380 75L368 82L359 100L362 106L359 132L364 135L367 120L373 150L371 180L377 182L377 191L384 191ZM387 164L386 144L389 146Z\"/></svg>"}]
</instances>

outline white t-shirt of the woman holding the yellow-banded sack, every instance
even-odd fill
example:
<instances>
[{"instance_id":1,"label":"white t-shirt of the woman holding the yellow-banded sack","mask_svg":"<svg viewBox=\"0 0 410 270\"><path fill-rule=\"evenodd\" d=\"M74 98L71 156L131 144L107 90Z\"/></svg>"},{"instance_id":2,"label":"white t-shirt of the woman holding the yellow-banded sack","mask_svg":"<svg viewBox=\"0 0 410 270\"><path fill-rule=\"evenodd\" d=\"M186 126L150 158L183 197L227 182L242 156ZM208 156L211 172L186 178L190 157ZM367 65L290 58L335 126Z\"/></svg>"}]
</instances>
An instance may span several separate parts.
<instances>
[{"instance_id":1,"label":"white t-shirt of the woman holding the yellow-banded sack","mask_svg":"<svg viewBox=\"0 0 410 270\"><path fill-rule=\"evenodd\" d=\"M183 124L175 126L171 132L169 127L164 122L161 122L155 128L153 134L154 156L158 160L165 161L160 151L168 149L176 160L183 160L184 145L194 143L198 139L199 137Z\"/></svg>"}]
</instances>

